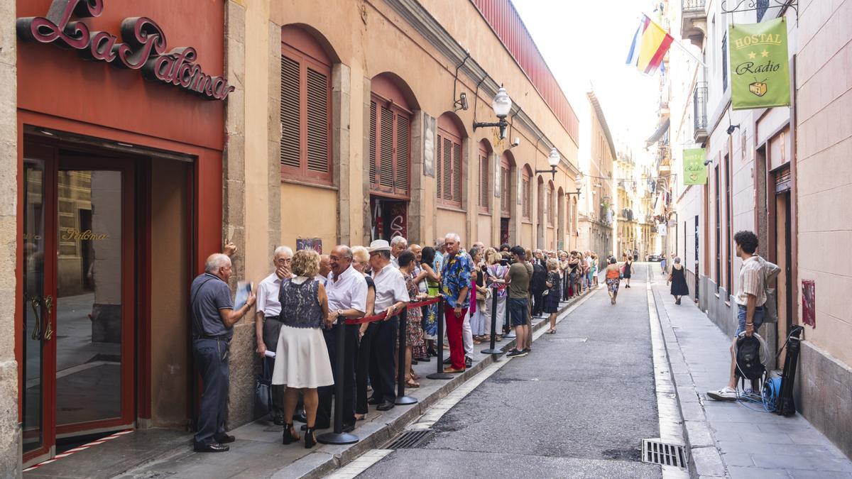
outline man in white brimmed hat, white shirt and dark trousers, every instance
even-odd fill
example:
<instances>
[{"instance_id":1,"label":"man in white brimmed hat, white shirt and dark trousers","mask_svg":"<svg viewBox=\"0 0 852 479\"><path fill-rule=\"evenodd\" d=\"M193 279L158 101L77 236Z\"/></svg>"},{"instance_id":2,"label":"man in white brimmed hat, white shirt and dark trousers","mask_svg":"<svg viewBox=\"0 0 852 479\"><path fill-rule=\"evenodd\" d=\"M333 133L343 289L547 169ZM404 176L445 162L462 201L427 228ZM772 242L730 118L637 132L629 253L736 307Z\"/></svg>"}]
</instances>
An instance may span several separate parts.
<instances>
[{"instance_id":1,"label":"man in white brimmed hat, white shirt and dark trousers","mask_svg":"<svg viewBox=\"0 0 852 479\"><path fill-rule=\"evenodd\" d=\"M394 347L398 338L400 320L397 315L406 307L408 297L406 280L398 268L390 263L391 247L385 240L375 240L370 244L370 266L373 282L376 284L377 313L386 311L388 317L371 323L375 329L371 349L371 384L373 395L371 404L377 404L379 411L394 407ZM400 251L402 252L402 251ZM369 332L368 332L369 334Z\"/></svg>"}]
</instances>

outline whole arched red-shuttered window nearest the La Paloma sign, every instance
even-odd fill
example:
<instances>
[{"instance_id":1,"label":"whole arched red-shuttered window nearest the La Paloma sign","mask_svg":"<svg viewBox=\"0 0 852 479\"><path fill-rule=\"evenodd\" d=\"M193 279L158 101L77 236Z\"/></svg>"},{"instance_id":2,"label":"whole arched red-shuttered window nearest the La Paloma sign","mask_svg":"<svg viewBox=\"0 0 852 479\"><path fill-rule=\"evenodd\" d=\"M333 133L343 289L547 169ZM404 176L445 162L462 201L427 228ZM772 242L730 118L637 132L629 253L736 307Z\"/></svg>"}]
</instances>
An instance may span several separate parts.
<instances>
[{"instance_id":1,"label":"whole arched red-shuttered window nearest the La Paloma sign","mask_svg":"<svg viewBox=\"0 0 852 479\"><path fill-rule=\"evenodd\" d=\"M331 59L297 26L281 29L281 177L331 184Z\"/></svg>"}]
</instances>

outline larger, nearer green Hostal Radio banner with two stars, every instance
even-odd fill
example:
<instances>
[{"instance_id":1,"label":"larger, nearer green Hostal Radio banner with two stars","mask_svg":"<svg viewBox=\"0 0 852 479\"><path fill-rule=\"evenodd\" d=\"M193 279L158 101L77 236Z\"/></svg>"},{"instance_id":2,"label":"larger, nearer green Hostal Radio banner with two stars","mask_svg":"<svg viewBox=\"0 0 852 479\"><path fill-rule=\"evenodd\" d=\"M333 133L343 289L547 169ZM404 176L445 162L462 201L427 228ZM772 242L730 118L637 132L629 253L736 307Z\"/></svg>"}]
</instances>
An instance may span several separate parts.
<instances>
[{"instance_id":1,"label":"larger, nearer green Hostal Radio banner with two stars","mask_svg":"<svg viewBox=\"0 0 852 479\"><path fill-rule=\"evenodd\" d=\"M790 106L790 65L784 17L728 26L734 110Z\"/></svg>"}]
</instances>

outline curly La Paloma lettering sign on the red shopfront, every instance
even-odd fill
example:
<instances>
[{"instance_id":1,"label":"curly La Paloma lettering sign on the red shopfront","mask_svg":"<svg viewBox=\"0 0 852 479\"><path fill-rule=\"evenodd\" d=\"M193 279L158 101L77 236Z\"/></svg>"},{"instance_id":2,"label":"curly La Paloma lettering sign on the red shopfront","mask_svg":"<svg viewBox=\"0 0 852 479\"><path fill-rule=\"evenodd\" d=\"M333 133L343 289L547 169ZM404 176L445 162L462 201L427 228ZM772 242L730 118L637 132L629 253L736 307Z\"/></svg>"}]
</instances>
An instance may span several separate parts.
<instances>
[{"instance_id":1,"label":"curly La Paloma lettering sign on the red shopfront","mask_svg":"<svg viewBox=\"0 0 852 479\"><path fill-rule=\"evenodd\" d=\"M233 91L224 77L211 77L195 61L193 47L166 52L165 33L154 20L130 17L121 22L121 39L110 32L91 32L82 21L103 13L103 0L54 0L46 17L17 20L22 40L54 43L62 49L76 49L84 60L106 61L112 66L141 70L147 80L171 84L201 95L207 100L224 100Z\"/></svg>"}]
</instances>

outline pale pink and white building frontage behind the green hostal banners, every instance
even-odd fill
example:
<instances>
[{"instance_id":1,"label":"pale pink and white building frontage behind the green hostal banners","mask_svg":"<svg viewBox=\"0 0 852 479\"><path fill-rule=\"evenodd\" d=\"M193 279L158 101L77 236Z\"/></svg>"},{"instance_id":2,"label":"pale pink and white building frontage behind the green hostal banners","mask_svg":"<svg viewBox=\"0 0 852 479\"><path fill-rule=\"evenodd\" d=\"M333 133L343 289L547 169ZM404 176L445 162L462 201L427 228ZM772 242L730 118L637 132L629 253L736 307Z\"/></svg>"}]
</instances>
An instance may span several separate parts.
<instances>
[{"instance_id":1,"label":"pale pink and white building frontage behind the green hostal banners","mask_svg":"<svg viewBox=\"0 0 852 479\"><path fill-rule=\"evenodd\" d=\"M668 227L666 249L684 258L690 294L730 334L736 327L732 295L741 266L733 237L740 230L757 234L758 254L781 268L774 285L777 300L770 305L778 321L765 324L761 333L780 354L780 367L787 332L805 325L797 408L850 454L852 360L841 344L848 345L852 330L849 315L834 300L842 297L849 268L825 258L845 256L839 248L849 229L838 223L845 204L832 195L842 194L849 176L840 173L848 163L840 159L850 133L843 107L848 85L835 79L848 76L838 52L852 35L844 23L852 4L820 5L757 3L755 9L725 12L716 0L664 3L671 31L680 32L704 65L680 49L669 53L672 68L661 95L671 97L671 145L678 147L671 150L673 175L658 200L669 205L661 211ZM780 16L786 17L792 105L735 111L728 25ZM705 148L705 185L683 184L682 150L692 147ZM817 285L829 291L824 303L803 295ZM817 328L810 318L823 322Z\"/></svg>"}]
</instances>

